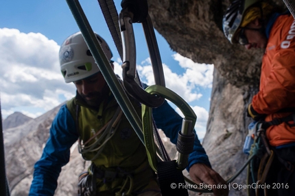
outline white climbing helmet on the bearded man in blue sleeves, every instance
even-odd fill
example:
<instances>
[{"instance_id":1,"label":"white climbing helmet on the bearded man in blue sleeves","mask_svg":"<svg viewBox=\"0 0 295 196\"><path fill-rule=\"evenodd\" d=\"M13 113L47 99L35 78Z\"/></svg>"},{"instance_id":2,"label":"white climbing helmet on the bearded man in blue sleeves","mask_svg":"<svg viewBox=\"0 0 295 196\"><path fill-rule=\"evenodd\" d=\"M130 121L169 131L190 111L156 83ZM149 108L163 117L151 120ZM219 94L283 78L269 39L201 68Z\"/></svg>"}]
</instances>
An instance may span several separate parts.
<instances>
[{"instance_id":1,"label":"white climbing helmet on the bearded man in blue sleeves","mask_svg":"<svg viewBox=\"0 0 295 196\"><path fill-rule=\"evenodd\" d=\"M95 35L106 57L110 60L113 54L108 44L106 44L106 41L97 35L97 33L95 33ZM81 32L74 33L64 40L60 46L59 58L60 70L66 83L85 79L99 72L95 59L91 55Z\"/></svg>"}]
</instances>

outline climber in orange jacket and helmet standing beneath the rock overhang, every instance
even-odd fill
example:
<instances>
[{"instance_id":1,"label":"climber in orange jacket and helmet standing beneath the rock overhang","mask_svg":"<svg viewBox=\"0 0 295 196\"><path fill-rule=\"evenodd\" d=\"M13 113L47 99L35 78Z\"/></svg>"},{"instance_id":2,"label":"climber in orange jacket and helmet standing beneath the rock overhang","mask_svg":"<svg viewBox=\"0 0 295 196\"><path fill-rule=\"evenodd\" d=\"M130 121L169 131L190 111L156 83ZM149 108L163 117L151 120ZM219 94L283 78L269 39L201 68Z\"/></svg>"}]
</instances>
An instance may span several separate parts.
<instances>
[{"instance_id":1,"label":"climber in orange jacket and helmet standing beneath the rock overhang","mask_svg":"<svg viewBox=\"0 0 295 196\"><path fill-rule=\"evenodd\" d=\"M295 195L294 186L285 186L295 182L295 21L290 12L279 13L268 2L233 1L224 14L223 30L232 44L265 49L259 92L248 105L248 116L268 122L266 137L276 154L275 169L270 168L267 178L274 189L268 195Z\"/></svg>"}]
</instances>

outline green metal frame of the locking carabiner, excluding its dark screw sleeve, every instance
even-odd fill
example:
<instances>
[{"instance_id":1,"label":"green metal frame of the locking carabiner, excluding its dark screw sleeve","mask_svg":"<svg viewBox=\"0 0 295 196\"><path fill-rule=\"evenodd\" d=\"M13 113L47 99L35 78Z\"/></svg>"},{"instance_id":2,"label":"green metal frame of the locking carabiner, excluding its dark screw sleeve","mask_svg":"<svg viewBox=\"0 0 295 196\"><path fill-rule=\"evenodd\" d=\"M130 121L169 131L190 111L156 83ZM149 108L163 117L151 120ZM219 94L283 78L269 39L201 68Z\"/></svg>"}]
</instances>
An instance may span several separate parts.
<instances>
[{"instance_id":1,"label":"green metal frame of the locking carabiner, excluding its dark screw sleeve","mask_svg":"<svg viewBox=\"0 0 295 196\"><path fill-rule=\"evenodd\" d=\"M145 89L146 92L150 94L158 94L167 100L170 100L182 111L183 115L185 115L185 126L182 124L182 134L183 135L191 135L193 134L193 127L196 124L197 116L196 113L193 112L193 109L189 107L189 104L185 102L178 94L173 92L166 87L161 85L151 85ZM147 157L150 163L150 166L154 171L156 171L156 145L154 143L154 134L152 130L152 108L145 106L142 104L142 124L143 124L143 137L145 141L145 148L147 150ZM187 123L189 123L189 126ZM187 130L187 128L191 130ZM178 168L185 169L187 167L187 158L189 155L187 154L178 154Z\"/></svg>"}]
</instances>

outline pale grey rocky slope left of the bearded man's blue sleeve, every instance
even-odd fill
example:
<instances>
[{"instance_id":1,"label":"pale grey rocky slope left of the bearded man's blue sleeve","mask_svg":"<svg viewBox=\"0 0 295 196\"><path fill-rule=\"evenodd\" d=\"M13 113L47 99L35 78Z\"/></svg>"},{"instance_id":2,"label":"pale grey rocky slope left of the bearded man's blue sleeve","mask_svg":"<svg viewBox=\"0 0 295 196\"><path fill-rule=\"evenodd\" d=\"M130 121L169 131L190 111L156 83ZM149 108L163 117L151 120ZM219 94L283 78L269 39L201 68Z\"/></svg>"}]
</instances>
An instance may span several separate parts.
<instances>
[{"instance_id":1,"label":"pale grey rocky slope left of the bearded man's blue sleeve","mask_svg":"<svg viewBox=\"0 0 295 196\"><path fill-rule=\"evenodd\" d=\"M27 195L34 163L42 154L51 122L59 107L21 126L5 130L5 164L11 195ZM14 193L14 190L19 191Z\"/></svg>"}]
</instances>

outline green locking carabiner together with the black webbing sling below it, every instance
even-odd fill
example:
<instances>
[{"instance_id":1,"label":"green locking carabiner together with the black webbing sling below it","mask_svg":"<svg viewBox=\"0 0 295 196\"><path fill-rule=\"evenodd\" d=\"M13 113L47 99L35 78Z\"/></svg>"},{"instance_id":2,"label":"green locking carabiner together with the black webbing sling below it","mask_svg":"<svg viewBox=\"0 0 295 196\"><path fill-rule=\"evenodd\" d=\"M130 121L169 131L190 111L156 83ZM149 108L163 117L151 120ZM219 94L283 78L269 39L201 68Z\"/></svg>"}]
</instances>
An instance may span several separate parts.
<instances>
[{"instance_id":1,"label":"green locking carabiner together with the black webbing sling below it","mask_svg":"<svg viewBox=\"0 0 295 196\"><path fill-rule=\"evenodd\" d=\"M152 132L152 108L142 105L142 122L143 137L145 139L145 148L150 166L158 173L158 182L160 184L162 195L187 195L188 192L184 188L170 188L172 183L185 184L185 178L182 170L187 167L189 154L193 152L193 142L195 134L193 126L196 124L196 114L193 112L189 104L185 102L178 94L161 85L152 85L145 89L147 93L159 94L163 98L172 101L185 115L182 121L182 128L178 133L178 141L176 148L179 152L178 160L160 161L156 160L156 150L154 143L154 135Z\"/></svg>"}]
</instances>

